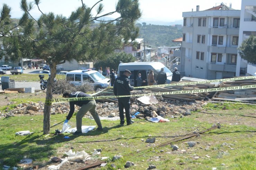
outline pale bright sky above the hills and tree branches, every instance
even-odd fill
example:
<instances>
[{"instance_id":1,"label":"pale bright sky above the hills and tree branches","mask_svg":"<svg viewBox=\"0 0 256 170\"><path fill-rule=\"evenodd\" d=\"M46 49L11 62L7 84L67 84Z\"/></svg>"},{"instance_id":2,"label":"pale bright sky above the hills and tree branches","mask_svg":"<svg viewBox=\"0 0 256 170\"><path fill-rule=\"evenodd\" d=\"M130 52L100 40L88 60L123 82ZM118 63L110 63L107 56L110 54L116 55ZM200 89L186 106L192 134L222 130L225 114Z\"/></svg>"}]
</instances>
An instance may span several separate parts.
<instances>
[{"instance_id":1,"label":"pale bright sky above the hills and tree branches","mask_svg":"<svg viewBox=\"0 0 256 170\"><path fill-rule=\"evenodd\" d=\"M31 0L27 0L31 1ZM92 7L93 4L98 2L98 0L83 0L83 2ZM158 21L176 21L182 20L182 12L189 12L192 10L195 11L196 6L200 6L201 10L206 10L212 8L213 6L220 5L221 2L226 4L229 7L229 4L232 3L232 8L236 10L241 9L241 0L228 0L228 1L216 1L216 0L139 0L140 9L143 13L142 20L158 20ZM11 7L11 15L12 18L20 18L21 10L19 8L20 0L1 0L0 8L2 8L2 4L6 3L9 7ZM115 9L115 5L117 0L103 0L104 4L104 12L110 12ZM74 11L77 7L81 6L81 0L41 0L39 4L40 9L47 12L54 12L55 14L62 14L65 17L68 17L72 11ZM95 10L92 12L95 13ZM40 12L35 9L31 12L33 16L38 18L40 16ZM112 16L118 17L118 14Z\"/></svg>"}]
</instances>

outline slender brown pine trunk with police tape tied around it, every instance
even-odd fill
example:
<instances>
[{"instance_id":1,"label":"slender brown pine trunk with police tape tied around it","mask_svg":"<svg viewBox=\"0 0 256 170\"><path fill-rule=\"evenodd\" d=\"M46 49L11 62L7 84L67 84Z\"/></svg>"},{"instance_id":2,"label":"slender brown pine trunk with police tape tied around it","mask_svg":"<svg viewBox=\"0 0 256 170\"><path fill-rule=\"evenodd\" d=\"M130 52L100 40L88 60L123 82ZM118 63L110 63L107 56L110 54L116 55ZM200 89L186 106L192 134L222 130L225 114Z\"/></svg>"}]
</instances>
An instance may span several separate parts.
<instances>
[{"instance_id":1,"label":"slender brown pine trunk with police tape tied around it","mask_svg":"<svg viewBox=\"0 0 256 170\"><path fill-rule=\"evenodd\" d=\"M51 76L49 76L47 80L47 88L46 88L46 99L52 99L52 88L54 83L54 78L56 76L56 65L50 64L51 68ZM44 125L43 132L44 134L50 133L50 115L51 115L51 105L44 105Z\"/></svg>"}]
</instances>

